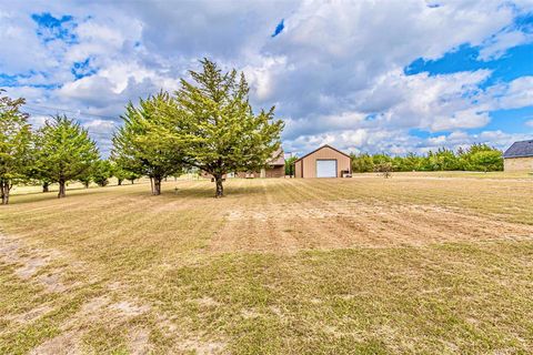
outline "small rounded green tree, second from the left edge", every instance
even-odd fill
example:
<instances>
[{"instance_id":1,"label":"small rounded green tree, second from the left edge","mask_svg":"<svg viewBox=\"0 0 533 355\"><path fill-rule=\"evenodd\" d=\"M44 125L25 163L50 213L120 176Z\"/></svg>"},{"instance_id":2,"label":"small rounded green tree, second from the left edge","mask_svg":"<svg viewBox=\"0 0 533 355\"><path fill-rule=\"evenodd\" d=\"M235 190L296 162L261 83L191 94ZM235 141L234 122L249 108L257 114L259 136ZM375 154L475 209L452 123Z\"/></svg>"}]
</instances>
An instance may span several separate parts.
<instances>
[{"instance_id":1,"label":"small rounded green tree, second from the left edge","mask_svg":"<svg viewBox=\"0 0 533 355\"><path fill-rule=\"evenodd\" d=\"M80 180L98 159L98 149L87 130L67 116L57 115L37 134L37 170L59 183L58 197L66 196L68 181Z\"/></svg>"}]
</instances>

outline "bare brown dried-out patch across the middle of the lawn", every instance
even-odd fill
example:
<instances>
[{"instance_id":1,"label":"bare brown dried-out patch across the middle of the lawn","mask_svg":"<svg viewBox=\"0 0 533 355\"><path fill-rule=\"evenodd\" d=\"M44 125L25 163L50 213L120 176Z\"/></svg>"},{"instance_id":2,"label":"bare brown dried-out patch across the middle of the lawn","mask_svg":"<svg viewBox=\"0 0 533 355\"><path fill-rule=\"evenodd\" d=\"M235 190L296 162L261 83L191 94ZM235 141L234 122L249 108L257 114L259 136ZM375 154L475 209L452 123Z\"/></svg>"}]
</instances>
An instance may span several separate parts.
<instances>
[{"instance_id":1,"label":"bare brown dried-out patch across the middle of the lawn","mask_svg":"<svg viewBox=\"0 0 533 355\"><path fill-rule=\"evenodd\" d=\"M454 241L533 240L533 226L439 205L379 201L235 207L213 239L212 252L422 246Z\"/></svg>"}]
</instances>

